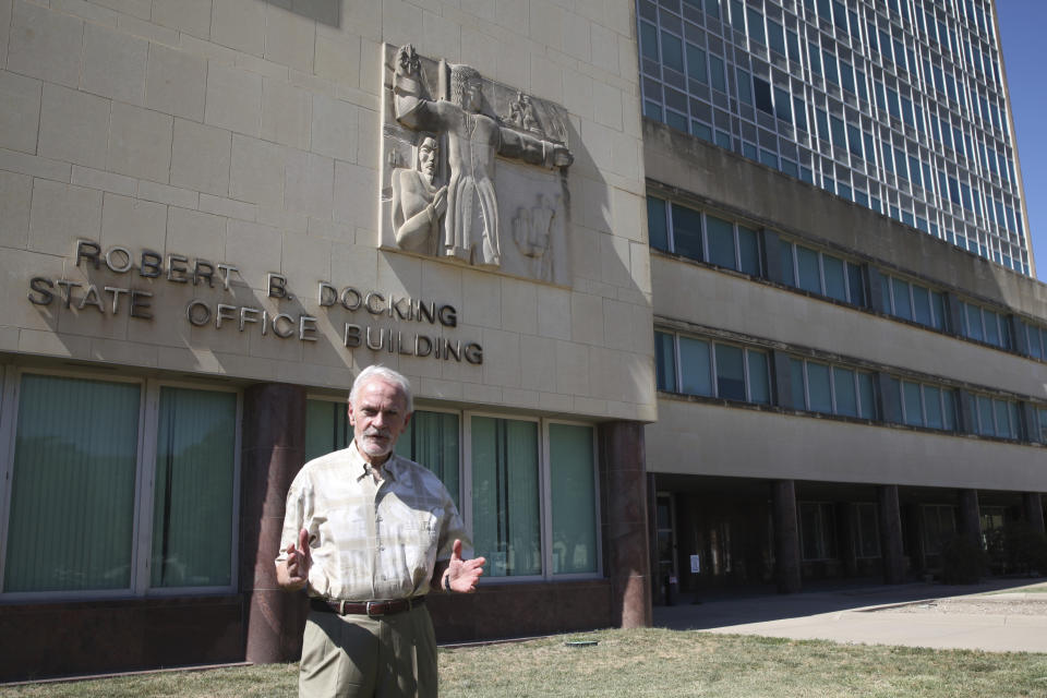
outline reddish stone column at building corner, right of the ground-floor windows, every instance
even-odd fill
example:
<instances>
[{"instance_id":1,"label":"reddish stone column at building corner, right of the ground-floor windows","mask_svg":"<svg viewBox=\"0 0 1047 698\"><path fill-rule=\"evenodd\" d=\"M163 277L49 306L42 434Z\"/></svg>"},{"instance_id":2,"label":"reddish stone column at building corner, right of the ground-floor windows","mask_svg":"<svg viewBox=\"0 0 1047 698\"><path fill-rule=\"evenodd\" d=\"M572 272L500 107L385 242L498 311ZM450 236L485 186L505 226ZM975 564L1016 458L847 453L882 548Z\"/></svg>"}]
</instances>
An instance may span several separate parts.
<instances>
[{"instance_id":1,"label":"reddish stone column at building corner, right of the ground-floor windows","mask_svg":"<svg viewBox=\"0 0 1047 698\"><path fill-rule=\"evenodd\" d=\"M651 625L651 552L647 533L643 424L600 424L603 545L612 618L624 628Z\"/></svg>"}]
</instances>

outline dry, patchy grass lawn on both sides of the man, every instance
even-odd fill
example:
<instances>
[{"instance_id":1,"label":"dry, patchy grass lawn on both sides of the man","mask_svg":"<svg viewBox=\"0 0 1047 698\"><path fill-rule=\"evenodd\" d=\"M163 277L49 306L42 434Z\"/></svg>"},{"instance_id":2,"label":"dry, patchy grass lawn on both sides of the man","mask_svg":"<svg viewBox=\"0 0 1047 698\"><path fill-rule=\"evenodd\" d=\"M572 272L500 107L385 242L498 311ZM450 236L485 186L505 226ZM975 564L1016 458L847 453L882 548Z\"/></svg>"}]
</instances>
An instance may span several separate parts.
<instances>
[{"instance_id":1,"label":"dry, patchy grass lawn on both sides of the man","mask_svg":"<svg viewBox=\"0 0 1047 698\"><path fill-rule=\"evenodd\" d=\"M567 639L599 640L594 647ZM441 650L441 696L1047 696L1047 654L849 646L665 629ZM0 689L12 697L294 696L276 664Z\"/></svg>"}]
</instances>

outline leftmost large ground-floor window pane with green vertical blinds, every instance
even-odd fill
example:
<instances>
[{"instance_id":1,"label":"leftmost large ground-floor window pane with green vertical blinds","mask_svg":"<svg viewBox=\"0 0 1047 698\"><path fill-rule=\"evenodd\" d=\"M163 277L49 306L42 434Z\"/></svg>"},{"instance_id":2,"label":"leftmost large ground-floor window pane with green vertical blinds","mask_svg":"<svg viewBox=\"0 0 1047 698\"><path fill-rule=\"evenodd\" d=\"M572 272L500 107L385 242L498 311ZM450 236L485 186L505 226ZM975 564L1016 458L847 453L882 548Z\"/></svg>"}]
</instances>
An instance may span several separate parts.
<instances>
[{"instance_id":1,"label":"leftmost large ground-floor window pane with green vertical blinds","mask_svg":"<svg viewBox=\"0 0 1047 698\"><path fill-rule=\"evenodd\" d=\"M22 376L4 591L130 588L141 392Z\"/></svg>"}]
</instances>

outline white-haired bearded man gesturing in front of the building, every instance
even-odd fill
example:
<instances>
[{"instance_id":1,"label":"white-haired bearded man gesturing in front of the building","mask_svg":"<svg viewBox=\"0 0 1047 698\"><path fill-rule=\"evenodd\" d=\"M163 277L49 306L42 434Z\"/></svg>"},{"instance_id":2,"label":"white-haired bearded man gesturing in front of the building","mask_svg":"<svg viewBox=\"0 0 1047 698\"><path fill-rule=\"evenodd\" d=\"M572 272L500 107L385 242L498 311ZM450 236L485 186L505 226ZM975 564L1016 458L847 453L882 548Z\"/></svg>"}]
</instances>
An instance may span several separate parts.
<instances>
[{"instance_id":1,"label":"white-haired bearded man gesturing in front of the building","mask_svg":"<svg viewBox=\"0 0 1047 698\"><path fill-rule=\"evenodd\" d=\"M310 595L300 696L436 696L425 594L474 591L484 559L462 559L443 483L393 453L411 412L407 378L364 369L349 393L352 443L305 464L288 491L276 575Z\"/></svg>"}]
</instances>

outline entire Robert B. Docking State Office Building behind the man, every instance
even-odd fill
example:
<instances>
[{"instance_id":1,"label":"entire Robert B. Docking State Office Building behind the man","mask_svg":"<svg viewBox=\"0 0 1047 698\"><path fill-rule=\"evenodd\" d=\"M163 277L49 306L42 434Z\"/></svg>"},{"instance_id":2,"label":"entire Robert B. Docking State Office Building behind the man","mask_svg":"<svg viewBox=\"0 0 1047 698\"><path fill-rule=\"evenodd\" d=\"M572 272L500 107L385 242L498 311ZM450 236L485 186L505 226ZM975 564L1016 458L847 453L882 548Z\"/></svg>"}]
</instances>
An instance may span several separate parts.
<instances>
[{"instance_id":1,"label":"entire Robert B. Docking State Office Building behind the man","mask_svg":"<svg viewBox=\"0 0 1047 698\"><path fill-rule=\"evenodd\" d=\"M0 681L293 660L373 363L443 640L1043 531L1024 212L989 2L0 0Z\"/></svg>"}]
</instances>

